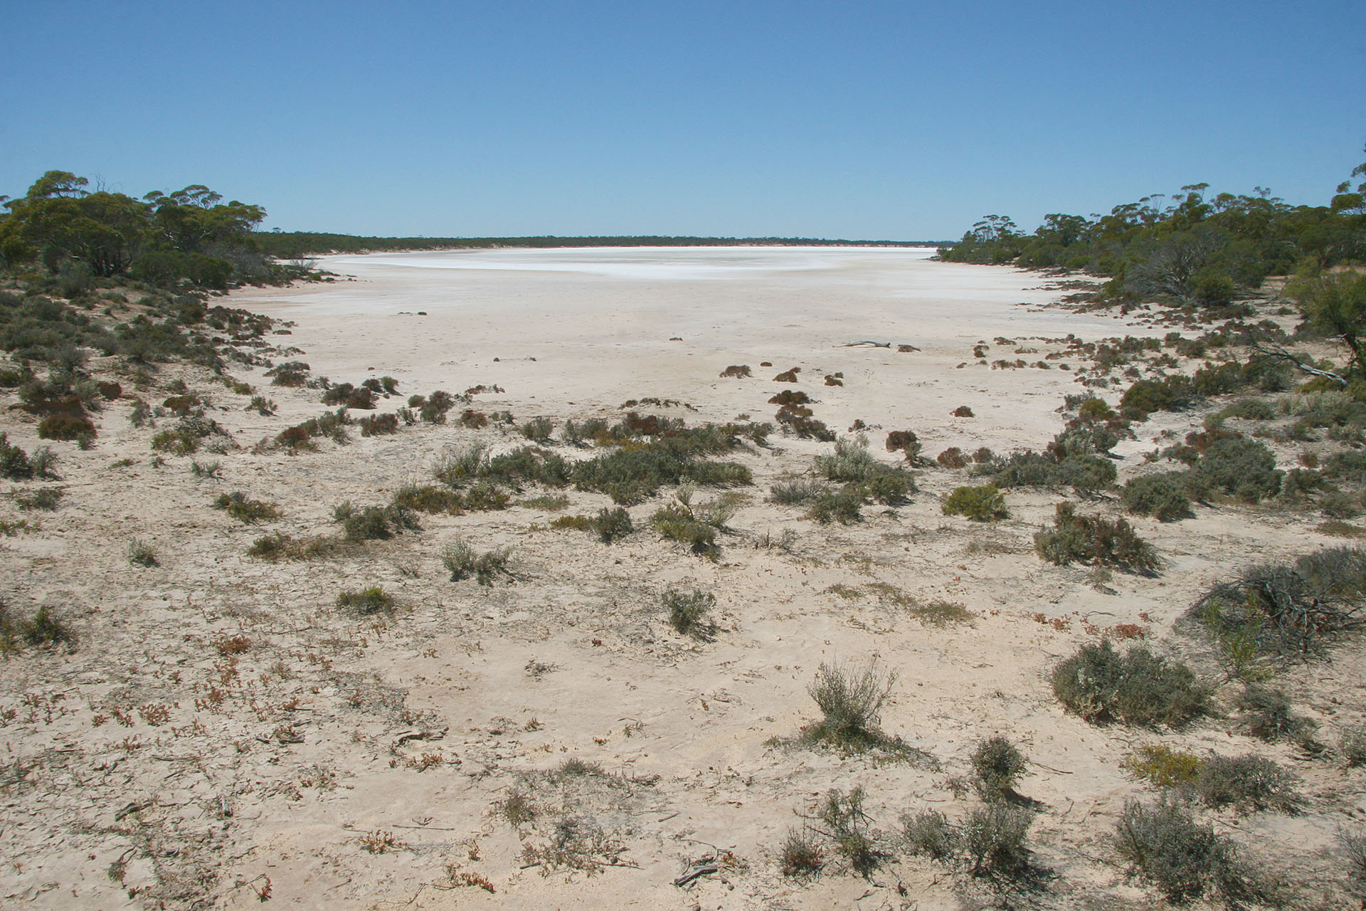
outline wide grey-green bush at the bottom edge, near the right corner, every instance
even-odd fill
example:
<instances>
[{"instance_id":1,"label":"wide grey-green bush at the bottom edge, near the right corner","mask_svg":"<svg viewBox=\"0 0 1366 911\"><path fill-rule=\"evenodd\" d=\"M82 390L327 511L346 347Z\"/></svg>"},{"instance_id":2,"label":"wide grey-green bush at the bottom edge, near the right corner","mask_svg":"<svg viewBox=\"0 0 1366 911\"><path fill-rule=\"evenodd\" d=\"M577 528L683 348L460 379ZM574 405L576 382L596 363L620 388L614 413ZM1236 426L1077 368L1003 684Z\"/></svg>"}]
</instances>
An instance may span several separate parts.
<instances>
[{"instance_id":1,"label":"wide grey-green bush at the bottom edge, near the right corner","mask_svg":"<svg viewBox=\"0 0 1366 911\"><path fill-rule=\"evenodd\" d=\"M1233 844L1197 822L1176 799L1162 798L1150 807L1126 802L1115 847L1132 874L1156 885L1169 901L1213 893L1229 908L1277 904L1273 889L1240 860Z\"/></svg>"}]
</instances>

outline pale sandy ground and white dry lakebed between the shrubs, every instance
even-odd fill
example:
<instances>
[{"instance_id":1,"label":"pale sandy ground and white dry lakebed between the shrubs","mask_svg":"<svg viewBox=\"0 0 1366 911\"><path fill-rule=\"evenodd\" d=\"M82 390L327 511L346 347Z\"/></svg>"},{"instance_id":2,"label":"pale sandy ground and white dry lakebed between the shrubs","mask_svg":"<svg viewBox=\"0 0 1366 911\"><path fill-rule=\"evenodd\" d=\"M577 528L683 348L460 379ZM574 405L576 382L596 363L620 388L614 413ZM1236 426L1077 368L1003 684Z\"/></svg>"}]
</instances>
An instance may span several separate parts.
<instances>
[{"instance_id":1,"label":"pale sandy ground and white dry lakebed between the shrubs","mask_svg":"<svg viewBox=\"0 0 1366 911\"><path fill-rule=\"evenodd\" d=\"M672 275L695 275L699 255L705 261L695 253L688 261L691 273ZM642 279L639 262L628 264L630 277L438 272L339 257L325 265L354 273L355 283L245 291L229 303L295 320L292 335L273 340L303 348L299 359L333 381L396 377L402 396L385 410L414 392L497 384L505 392L477 396L475 407L559 421L616 417L626 399L658 396L695 406L664 412L698 423L742 412L772 419L768 399L796 388L818 399L817 417L841 433L855 418L881 425L870 443L887 460L891 429L914 429L930 456L947 445L1038 448L1059 430L1055 410L1081 389L1075 374L992 370L975 363L974 343L1008 336L1038 352L993 344L989 359L1033 362L1060 346L1026 336L1126 332L1108 317L1020 306L1057 296L1029 273L882 250L816 251L805 262L829 260L837 265ZM865 339L921 351L844 347ZM1065 362L1079 366L1049 363ZM754 378L720 380L731 363L750 365ZM802 367L796 387L770 381L792 366ZM232 372L273 397L280 414L243 411L243 397L202 372L178 367L164 380L184 376L209 395L217 406L210 415L245 447L322 410L317 391L269 387L260 369ZM844 387L822 385L833 372L844 373ZM949 417L960 404L977 417ZM1220 828L1307 870L1299 881L1336 888L1311 858L1332 848L1336 807L1361 791L1361 772L1296 762L1290 747L1229 736L1220 721L1180 735L1094 728L1064 714L1048 686L1056 661L1104 628L1134 623L1161 642L1232 567L1330 542L1313 533L1313 516L1225 505L1169 526L1135 519L1167 560L1164 575L1115 574L1097 589L1085 568L1052 567L1033 553L1031 535L1059 493L1009 492L1012 518L981 526L940 512L944 494L971 482L967 473L926 470L911 504L867 507L854 526L818 526L766 494L829 445L776 434L773 449L736 456L755 486L743 490L749 500L716 563L649 531L650 514L671 496L664 490L631 507L638 531L612 546L581 531L533 530L555 514L514 507L422 516L419 533L335 559L272 564L245 553L265 530L335 533L339 501L387 501L399 483L426 478L448 445L479 438L510 449L520 437L422 425L392 437L352 434L344 447L324 441L294 458L246 449L197 456L221 460L223 479L210 481L194 478L186 458L149 464L154 429L133 429L127 412L126 402L104 411L90 452L57 445L67 500L56 514L0 505L0 518L40 526L0 545L5 600L20 612L52 605L82 638L70 656L29 653L0 667L0 709L15 709L0 729L11 763L0 815L0 851L11 860L0 870L7 903L194 907L209 896L208 904L232 908L979 907L989 896L977 884L907 856L889 833L903 811L960 818L975 798L955 796L952 777L996 732L1035 763L1019 791L1041 804L1033 845L1057 877L1037 896L1041 907L1150 907L1126 884L1109 837L1127 796L1152 796L1120 766L1152 740L1225 754L1258 748L1292 763L1303 791L1315 795L1305 815L1224 814ZM1141 425L1145 436L1119 448L1128 453L1121 478L1139 467L1152 434L1184 433L1199 419L1193 412ZM31 422L8 422L11 441L38 443ZM1280 455L1290 464L1295 449ZM123 458L135 464L116 466ZM235 489L279 503L283 518L250 527L209 507ZM568 496L570 512L609 505L600 494ZM1116 511L1104 500L1086 508ZM794 534L788 550L755 546L784 530ZM153 544L160 567L128 565L131 535ZM449 582L440 552L455 537L512 546L518 580ZM922 624L870 583L960 602L974 624ZM333 606L339 591L369 585L396 595L392 620L357 620ZM714 642L663 623L667 585L714 591ZM1035 615L1060 621L1041 624ZM213 645L238 634L250 649L236 658ZM884 729L932 753L943 770L768 746L817 717L806 687L822 661L872 657L899 675ZM537 664L545 665L538 675L529 671ZM1281 684L1298 710L1325 724L1361 724L1361 672L1354 649L1330 669L1314 665ZM157 705L169 718L152 724L139 707ZM97 714L112 718L96 725ZM281 742L277 732L291 725L302 742ZM404 732L443 736L403 740ZM423 754L434 765L419 770ZM544 773L567 757L598 762L609 777L549 781ZM538 815L514 829L497 804L523 776ZM869 878L833 856L814 881L781 877L775 855L802 824L798 814L829 788L855 785L866 789L870 826L895 856ZM128 804L143 809L119 815ZM601 826L623 848L622 866L594 875L523 866L522 850L550 843L566 818L579 819L581 830L589 819ZM370 854L361 839L374 832L404 844ZM732 862L686 889L672 885L713 848ZM108 873L120 859L116 881ZM496 892L452 888L448 867L458 878L486 878ZM265 906L254 892L264 877L273 893Z\"/></svg>"}]
</instances>

